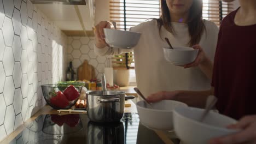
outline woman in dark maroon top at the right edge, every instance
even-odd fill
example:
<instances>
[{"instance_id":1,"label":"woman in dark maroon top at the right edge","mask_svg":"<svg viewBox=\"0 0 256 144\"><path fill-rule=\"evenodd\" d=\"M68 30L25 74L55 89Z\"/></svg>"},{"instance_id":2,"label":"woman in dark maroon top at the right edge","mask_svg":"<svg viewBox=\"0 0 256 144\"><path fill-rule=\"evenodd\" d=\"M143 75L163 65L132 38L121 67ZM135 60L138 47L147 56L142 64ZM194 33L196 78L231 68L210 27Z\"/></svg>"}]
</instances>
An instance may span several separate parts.
<instances>
[{"instance_id":1,"label":"woman in dark maroon top at the right edge","mask_svg":"<svg viewBox=\"0 0 256 144\"><path fill-rule=\"evenodd\" d=\"M231 1L234 0L225 0ZM174 99L190 106L203 107L207 96L214 92L219 112L240 119L229 127L242 130L210 143L256 143L256 1L239 2L241 7L226 16L220 26L214 66L199 45L194 46L194 49L200 50L195 62L184 66L200 65L209 74L213 69L213 88L204 92L159 92L148 97L152 102Z\"/></svg>"}]
</instances>

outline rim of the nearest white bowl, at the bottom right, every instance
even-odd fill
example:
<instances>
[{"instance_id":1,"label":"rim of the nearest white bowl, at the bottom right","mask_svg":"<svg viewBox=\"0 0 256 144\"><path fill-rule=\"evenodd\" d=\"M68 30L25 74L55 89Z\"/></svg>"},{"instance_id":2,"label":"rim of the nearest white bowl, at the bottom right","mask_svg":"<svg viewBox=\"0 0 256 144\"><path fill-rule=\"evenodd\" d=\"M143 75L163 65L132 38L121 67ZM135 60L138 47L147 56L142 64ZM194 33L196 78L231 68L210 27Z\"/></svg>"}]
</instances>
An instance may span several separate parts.
<instances>
[{"instance_id":1,"label":"rim of the nearest white bowl, at the bottom right","mask_svg":"<svg viewBox=\"0 0 256 144\"><path fill-rule=\"evenodd\" d=\"M238 132L237 129L228 129L228 128L223 128L223 127L217 127L217 126L214 126L214 125L210 125L210 124L198 122L198 121L196 121L195 119L192 119L192 118L185 117L185 116L181 115L181 113L177 112L178 109L183 109L183 108L184 108L184 107L181 107L181 106L176 107L176 108L173 110L173 112L174 112L174 117L175 117L175 115L178 115L179 117L182 117L182 118L184 118L184 119L187 119L187 120L190 121L191 123L194 123L194 124L196 124L196 125L201 125L202 127L206 127L206 128L211 128L211 129L215 129L215 130L221 130L221 131L229 132L229 133ZM196 111L199 111L199 110L202 111L202 110L204 110L204 109L199 109L199 108L196 108L196 107L189 107L189 106L188 106L188 107L185 107L185 108L186 108L186 109L190 109L190 110L196 110ZM210 112L213 113L213 111L210 111ZM231 118L231 117L222 115L222 114L220 114L220 113L217 113L217 114L219 114L219 115L221 115L221 116L223 116L223 117L225 117L225 118L229 118L229 119L232 119L232 120L236 121L236 119L234 119L234 118ZM173 117L173 118L174 118L174 117ZM237 122L237 121L236 121L236 122Z\"/></svg>"}]
</instances>

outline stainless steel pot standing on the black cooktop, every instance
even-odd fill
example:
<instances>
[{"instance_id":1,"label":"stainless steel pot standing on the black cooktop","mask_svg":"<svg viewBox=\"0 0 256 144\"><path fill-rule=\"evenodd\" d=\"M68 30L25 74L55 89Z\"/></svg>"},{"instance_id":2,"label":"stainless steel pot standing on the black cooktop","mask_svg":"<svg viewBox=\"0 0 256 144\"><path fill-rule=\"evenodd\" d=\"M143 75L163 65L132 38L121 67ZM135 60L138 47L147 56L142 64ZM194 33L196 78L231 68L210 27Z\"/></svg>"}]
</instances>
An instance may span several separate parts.
<instances>
[{"instance_id":1,"label":"stainless steel pot standing on the black cooktop","mask_svg":"<svg viewBox=\"0 0 256 144\"><path fill-rule=\"evenodd\" d=\"M94 122L119 122L124 116L125 96L121 91L92 91L87 93L87 113Z\"/></svg>"}]
</instances>

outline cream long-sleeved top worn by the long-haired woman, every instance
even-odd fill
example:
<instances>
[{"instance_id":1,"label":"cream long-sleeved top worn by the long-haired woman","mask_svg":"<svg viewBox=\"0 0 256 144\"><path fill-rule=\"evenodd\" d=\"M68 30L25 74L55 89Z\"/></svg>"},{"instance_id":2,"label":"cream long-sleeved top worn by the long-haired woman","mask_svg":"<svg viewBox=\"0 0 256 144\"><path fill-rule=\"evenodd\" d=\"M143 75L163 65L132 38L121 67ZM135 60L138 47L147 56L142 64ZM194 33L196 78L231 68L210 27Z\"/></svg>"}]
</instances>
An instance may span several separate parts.
<instances>
[{"instance_id":1,"label":"cream long-sleeved top worn by the long-haired woman","mask_svg":"<svg viewBox=\"0 0 256 144\"><path fill-rule=\"evenodd\" d=\"M210 21L204 21L206 31L203 32L199 45L206 55L213 61L218 39L218 27ZM168 47L164 40L167 37L173 46L188 46L190 40L188 25L172 22L176 34L173 35L164 27L161 28L161 38L156 20L142 22L132 27L130 31L141 33L138 44L133 47L137 87L146 95L159 91L201 91L211 87L211 80L207 79L199 67L184 69L167 62L162 47ZM118 55L132 50L115 47L98 49L97 55Z\"/></svg>"}]
</instances>

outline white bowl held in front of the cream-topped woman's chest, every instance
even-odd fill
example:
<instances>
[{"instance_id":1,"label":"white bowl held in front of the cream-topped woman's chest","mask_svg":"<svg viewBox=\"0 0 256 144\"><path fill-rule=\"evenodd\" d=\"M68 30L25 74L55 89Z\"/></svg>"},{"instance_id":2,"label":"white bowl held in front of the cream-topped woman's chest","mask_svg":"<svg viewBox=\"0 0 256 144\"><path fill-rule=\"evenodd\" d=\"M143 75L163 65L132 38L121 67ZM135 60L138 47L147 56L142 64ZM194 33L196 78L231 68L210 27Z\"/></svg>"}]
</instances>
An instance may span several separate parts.
<instances>
[{"instance_id":1,"label":"white bowl held in front of the cream-topped woman's chest","mask_svg":"<svg viewBox=\"0 0 256 144\"><path fill-rule=\"evenodd\" d=\"M192 47L174 46L173 49L164 47L165 59L175 65L185 65L194 62L198 50Z\"/></svg>"}]
</instances>

